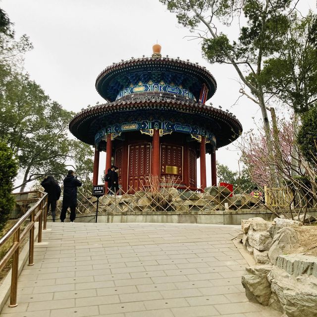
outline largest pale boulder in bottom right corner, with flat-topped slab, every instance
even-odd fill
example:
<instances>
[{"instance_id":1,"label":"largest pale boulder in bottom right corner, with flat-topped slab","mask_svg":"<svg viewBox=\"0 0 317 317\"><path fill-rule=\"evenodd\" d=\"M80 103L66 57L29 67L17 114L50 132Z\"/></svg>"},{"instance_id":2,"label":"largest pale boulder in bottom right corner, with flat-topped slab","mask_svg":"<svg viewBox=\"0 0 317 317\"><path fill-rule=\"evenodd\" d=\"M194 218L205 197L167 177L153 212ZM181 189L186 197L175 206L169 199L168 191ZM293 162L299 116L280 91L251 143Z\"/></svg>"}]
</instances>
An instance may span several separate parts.
<instances>
[{"instance_id":1,"label":"largest pale boulder in bottom right corner, with flat-topped slab","mask_svg":"<svg viewBox=\"0 0 317 317\"><path fill-rule=\"evenodd\" d=\"M317 317L317 278L312 274L297 275L300 274L300 270L294 270L297 261L303 266L310 266L304 264L305 259L302 257L301 255L278 257L276 263L283 264L282 267L287 269L292 267L292 274L277 265L273 266L267 276L272 291L269 305L274 308L280 307L288 317ZM312 263L314 260L309 262Z\"/></svg>"}]
</instances>

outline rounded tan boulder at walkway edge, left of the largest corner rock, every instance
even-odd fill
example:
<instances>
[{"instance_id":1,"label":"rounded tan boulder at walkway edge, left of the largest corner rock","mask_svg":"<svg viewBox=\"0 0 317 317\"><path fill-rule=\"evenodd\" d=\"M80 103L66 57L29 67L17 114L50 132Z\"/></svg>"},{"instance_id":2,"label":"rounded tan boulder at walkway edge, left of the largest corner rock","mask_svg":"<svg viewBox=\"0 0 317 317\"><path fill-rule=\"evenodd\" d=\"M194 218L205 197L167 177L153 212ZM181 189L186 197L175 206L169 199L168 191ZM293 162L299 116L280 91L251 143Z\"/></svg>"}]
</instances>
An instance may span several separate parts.
<instances>
[{"instance_id":1,"label":"rounded tan boulder at walkway edge, left of the largest corner rock","mask_svg":"<svg viewBox=\"0 0 317 317\"><path fill-rule=\"evenodd\" d=\"M246 296L251 302L267 306L271 297L271 288L267 280L267 274L271 271L271 265L256 265L246 268L242 275L242 285Z\"/></svg>"}]
</instances>

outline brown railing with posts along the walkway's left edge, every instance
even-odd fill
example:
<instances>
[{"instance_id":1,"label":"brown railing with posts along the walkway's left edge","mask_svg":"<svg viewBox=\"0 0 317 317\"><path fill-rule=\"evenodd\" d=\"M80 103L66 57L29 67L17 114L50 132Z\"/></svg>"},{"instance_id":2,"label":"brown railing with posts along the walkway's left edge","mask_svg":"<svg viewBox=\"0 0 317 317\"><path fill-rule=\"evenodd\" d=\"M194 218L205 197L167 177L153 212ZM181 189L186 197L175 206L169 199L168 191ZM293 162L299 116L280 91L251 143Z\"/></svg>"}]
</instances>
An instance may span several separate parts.
<instances>
[{"instance_id":1,"label":"brown railing with posts along the walkway's left edge","mask_svg":"<svg viewBox=\"0 0 317 317\"><path fill-rule=\"evenodd\" d=\"M47 220L47 200L48 194L41 191L31 191L14 194L18 195L29 195L36 194L36 197L31 197L27 199L17 199L17 203L33 203L34 205L26 211L18 221L1 237L0 239L0 248L5 244L9 243L13 238L12 244L9 247L8 251L0 260L0 270L8 263L12 258L12 275L11 275L11 288L10 288L10 305L9 307L17 306L17 282L18 282L18 264L19 264L19 249L22 241L28 236L30 236L29 242L29 264L34 265L34 232L35 232L35 222L39 222L38 227L38 242L42 241L42 220L43 220L43 230L46 229L46 220ZM45 212L43 212L45 211ZM44 213L44 215L43 215ZM22 225L28 222L24 227L23 231L21 230ZM21 232L22 231L22 232Z\"/></svg>"}]
</instances>

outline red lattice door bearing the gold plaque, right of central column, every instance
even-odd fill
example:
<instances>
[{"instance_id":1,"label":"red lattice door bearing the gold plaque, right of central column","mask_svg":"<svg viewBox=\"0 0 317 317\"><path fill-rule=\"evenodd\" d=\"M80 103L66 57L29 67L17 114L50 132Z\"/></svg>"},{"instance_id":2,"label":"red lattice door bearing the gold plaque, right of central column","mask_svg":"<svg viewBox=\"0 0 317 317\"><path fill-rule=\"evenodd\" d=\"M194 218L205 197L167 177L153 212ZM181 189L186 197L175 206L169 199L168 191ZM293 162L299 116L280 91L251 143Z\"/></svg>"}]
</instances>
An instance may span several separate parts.
<instances>
[{"instance_id":1,"label":"red lattice door bearing the gold plaque, right of central column","mask_svg":"<svg viewBox=\"0 0 317 317\"><path fill-rule=\"evenodd\" d=\"M160 148L160 176L173 176L183 180L183 147L162 144Z\"/></svg>"}]
</instances>

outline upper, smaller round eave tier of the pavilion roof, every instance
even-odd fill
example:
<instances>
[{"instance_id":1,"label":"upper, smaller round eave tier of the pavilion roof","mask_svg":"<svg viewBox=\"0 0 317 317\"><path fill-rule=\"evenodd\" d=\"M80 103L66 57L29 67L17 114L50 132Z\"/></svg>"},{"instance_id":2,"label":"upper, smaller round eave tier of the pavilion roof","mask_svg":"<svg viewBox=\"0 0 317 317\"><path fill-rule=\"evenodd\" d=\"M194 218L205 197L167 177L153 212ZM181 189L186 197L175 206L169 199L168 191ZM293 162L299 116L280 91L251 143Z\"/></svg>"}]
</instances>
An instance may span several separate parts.
<instances>
[{"instance_id":1,"label":"upper, smaller round eave tier of the pavilion roof","mask_svg":"<svg viewBox=\"0 0 317 317\"><path fill-rule=\"evenodd\" d=\"M106 67L97 77L96 89L104 99L113 102L124 88L136 86L140 82L146 84L149 80L186 88L197 101L203 83L208 88L207 100L217 87L215 79L204 66L179 58L140 57L122 60Z\"/></svg>"}]
</instances>

